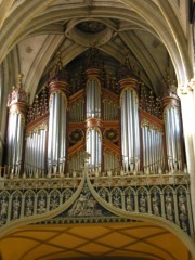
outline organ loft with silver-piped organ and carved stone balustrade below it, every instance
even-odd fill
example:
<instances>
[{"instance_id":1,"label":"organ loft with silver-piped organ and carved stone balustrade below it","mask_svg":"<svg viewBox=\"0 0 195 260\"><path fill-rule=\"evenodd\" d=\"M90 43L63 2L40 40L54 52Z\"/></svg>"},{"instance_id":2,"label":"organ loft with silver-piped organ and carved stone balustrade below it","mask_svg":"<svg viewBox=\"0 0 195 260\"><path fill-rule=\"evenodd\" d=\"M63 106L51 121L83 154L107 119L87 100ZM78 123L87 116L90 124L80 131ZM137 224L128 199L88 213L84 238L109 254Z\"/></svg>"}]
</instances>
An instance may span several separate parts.
<instances>
[{"instance_id":1,"label":"organ loft with silver-piped organ and carved stone balustrade below it","mask_svg":"<svg viewBox=\"0 0 195 260\"><path fill-rule=\"evenodd\" d=\"M22 75L8 96L0 229L40 216L57 224L139 213L193 237L180 99L169 75L154 93L130 57L110 74L95 48L66 67L58 54L48 75L31 104Z\"/></svg>"}]
</instances>

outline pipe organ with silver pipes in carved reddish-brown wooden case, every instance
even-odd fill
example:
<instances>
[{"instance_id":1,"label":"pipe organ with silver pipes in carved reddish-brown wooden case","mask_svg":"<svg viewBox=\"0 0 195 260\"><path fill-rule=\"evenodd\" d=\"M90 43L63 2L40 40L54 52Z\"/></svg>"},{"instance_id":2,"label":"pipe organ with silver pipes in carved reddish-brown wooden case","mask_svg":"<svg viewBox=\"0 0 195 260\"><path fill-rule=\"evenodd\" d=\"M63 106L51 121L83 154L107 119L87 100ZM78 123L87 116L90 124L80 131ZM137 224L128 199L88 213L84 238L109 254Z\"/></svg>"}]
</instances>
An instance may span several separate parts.
<instances>
[{"instance_id":1,"label":"pipe organ with silver pipes in carved reddish-brown wooden case","mask_svg":"<svg viewBox=\"0 0 195 260\"><path fill-rule=\"evenodd\" d=\"M58 57L32 105L20 78L9 95L6 176L77 176L86 155L92 176L184 169L176 91L168 83L156 98L127 62L110 76L96 52L89 50L76 76Z\"/></svg>"}]
</instances>

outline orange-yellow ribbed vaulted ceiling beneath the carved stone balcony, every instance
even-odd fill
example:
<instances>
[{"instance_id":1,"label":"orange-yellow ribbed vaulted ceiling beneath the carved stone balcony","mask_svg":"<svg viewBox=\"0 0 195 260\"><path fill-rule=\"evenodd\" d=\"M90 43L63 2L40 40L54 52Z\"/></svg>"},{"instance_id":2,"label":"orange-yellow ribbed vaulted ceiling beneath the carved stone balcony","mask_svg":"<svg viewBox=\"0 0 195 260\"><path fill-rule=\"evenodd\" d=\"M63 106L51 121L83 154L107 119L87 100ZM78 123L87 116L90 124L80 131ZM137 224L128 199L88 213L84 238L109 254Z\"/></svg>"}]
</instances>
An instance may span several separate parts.
<instances>
[{"instance_id":1,"label":"orange-yellow ribbed vaulted ceiling beneath the carved stone balcony","mask_svg":"<svg viewBox=\"0 0 195 260\"><path fill-rule=\"evenodd\" d=\"M1 238L0 251L3 260L193 259L174 234L147 222L28 225Z\"/></svg>"}]
</instances>

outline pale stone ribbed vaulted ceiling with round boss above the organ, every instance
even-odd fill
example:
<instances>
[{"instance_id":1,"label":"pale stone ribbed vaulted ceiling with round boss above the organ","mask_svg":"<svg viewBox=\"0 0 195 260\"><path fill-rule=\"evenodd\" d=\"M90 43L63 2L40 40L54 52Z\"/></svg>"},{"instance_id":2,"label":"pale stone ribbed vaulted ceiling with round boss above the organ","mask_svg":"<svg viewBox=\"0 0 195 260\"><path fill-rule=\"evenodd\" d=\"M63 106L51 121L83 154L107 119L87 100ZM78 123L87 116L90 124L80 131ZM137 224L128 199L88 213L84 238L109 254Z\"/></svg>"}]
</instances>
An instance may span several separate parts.
<instances>
[{"instance_id":1,"label":"pale stone ribbed vaulted ceiling with round boss above the organ","mask_svg":"<svg viewBox=\"0 0 195 260\"><path fill-rule=\"evenodd\" d=\"M183 83L192 76L186 2L1 0L0 62L4 86L11 88L17 74L23 73L32 101L54 65L57 51L67 65L90 46L105 55L110 70L128 53L141 79L157 93L162 92L166 69Z\"/></svg>"}]
</instances>

